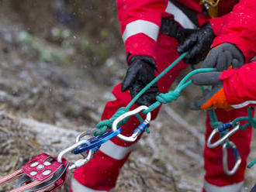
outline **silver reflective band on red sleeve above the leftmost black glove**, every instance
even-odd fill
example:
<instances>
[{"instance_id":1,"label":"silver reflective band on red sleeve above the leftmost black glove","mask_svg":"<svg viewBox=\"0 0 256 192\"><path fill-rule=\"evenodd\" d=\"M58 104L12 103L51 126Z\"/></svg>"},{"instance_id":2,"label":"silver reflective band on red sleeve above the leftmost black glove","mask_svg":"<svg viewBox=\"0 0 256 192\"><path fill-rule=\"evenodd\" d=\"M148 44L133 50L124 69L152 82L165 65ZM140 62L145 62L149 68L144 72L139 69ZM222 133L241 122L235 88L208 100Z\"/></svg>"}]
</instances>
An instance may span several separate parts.
<instances>
[{"instance_id":1,"label":"silver reflective band on red sleeve above the leftmost black glove","mask_svg":"<svg viewBox=\"0 0 256 192\"><path fill-rule=\"evenodd\" d=\"M147 22L145 20L130 22L126 25L126 29L123 32L123 42L125 43L126 39L130 36L137 35L138 33L144 33L146 36L157 41L159 26L154 24L154 22Z\"/></svg>"}]
</instances>

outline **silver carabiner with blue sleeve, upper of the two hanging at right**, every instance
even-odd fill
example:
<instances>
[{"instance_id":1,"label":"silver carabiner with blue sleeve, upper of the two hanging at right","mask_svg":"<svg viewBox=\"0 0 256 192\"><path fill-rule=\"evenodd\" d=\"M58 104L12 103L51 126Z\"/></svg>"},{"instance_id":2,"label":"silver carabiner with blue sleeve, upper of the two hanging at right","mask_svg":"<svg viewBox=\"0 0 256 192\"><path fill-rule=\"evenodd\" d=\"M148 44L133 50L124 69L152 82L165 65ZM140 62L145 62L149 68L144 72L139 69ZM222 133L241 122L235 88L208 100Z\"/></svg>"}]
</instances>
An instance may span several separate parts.
<instances>
[{"instance_id":1,"label":"silver carabiner with blue sleeve, upper of the two hanging at right","mask_svg":"<svg viewBox=\"0 0 256 192\"><path fill-rule=\"evenodd\" d=\"M213 132L211 133L211 135L209 135L209 138L207 139L207 146L210 149L215 148L216 146L219 146L221 143L223 143L226 139L228 139L230 137L230 135L233 135L235 132L237 132L240 129L240 123L237 123L237 125L234 127L234 129L230 130L229 132L227 132L226 135L224 135L222 138L220 138L219 140L217 140L216 142L212 143L213 137L216 135L217 132L223 132L226 131L227 129L229 129L230 127L232 127L232 123L225 123L223 125L221 125L220 127L213 129Z\"/></svg>"}]
</instances>

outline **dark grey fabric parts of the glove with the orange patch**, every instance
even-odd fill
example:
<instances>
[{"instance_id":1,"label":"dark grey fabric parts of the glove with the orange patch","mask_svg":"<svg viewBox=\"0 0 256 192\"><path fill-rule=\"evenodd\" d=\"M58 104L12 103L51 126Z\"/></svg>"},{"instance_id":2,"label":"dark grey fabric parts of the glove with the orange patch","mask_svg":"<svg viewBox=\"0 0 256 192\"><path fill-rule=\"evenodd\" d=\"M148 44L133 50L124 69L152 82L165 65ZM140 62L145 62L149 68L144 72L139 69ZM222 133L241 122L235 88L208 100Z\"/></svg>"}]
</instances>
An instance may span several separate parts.
<instances>
[{"instance_id":1,"label":"dark grey fabric parts of the glove with the orange patch","mask_svg":"<svg viewBox=\"0 0 256 192\"><path fill-rule=\"evenodd\" d=\"M213 86L212 90L204 90L202 96L196 96L190 103L189 108L192 110L200 110L201 106L213 97L216 92L223 88L223 81L219 80L220 71L213 71L207 73L194 74L192 76L192 83L196 85Z\"/></svg>"}]
</instances>

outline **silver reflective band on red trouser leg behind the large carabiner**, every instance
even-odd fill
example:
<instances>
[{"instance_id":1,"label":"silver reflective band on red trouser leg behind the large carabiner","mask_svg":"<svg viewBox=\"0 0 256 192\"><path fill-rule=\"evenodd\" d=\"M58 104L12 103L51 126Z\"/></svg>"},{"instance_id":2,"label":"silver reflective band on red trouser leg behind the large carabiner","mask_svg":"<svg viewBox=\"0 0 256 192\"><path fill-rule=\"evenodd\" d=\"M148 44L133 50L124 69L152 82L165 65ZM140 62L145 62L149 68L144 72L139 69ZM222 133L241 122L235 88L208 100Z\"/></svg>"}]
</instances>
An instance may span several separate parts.
<instances>
[{"instance_id":1,"label":"silver reflective band on red trouser leg behind the large carabiner","mask_svg":"<svg viewBox=\"0 0 256 192\"><path fill-rule=\"evenodd\" d=\"M102 153L116 160L123 159L134 148L135 144L129 147L117 146L112 141L105 142L99 149Z\"/></svg>"}]
</instances>

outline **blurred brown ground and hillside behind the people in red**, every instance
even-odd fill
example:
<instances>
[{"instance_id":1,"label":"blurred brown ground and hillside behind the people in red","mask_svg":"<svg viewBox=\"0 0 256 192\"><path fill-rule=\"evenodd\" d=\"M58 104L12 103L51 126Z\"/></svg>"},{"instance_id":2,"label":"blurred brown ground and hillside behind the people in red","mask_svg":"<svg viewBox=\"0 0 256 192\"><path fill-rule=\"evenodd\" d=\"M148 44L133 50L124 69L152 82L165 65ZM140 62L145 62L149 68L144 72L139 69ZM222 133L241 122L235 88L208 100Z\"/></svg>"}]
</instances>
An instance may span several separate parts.
<instances>
[{"instance_id":1,"label":"blurred brown ground and hillside behind the people in red","mask_svg":"<svg viewBox=\"0 0 256 192\"><path fill-rule=\"evenodd\" d=\"M0 177L39 153L56 156L95 127L125 73L116 1L0 0ZM205 112L188 109L198 93L189 87L164 105L115 191L201 191ZM255 173L247 170L249 188Z\"/></svg>"}]
</instances>

